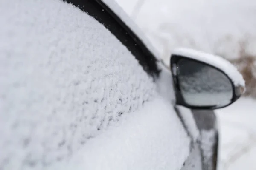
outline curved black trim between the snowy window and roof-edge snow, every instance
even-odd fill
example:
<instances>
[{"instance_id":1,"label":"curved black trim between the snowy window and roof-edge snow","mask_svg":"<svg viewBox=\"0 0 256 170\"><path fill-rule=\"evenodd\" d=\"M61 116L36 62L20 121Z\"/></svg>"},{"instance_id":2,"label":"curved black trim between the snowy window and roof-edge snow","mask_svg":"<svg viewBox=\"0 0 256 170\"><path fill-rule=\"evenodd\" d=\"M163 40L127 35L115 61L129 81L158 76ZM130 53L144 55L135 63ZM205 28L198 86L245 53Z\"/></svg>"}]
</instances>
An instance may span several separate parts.
<instances>
[{"instance_id":1,"label":"curved black trim between the snowy window and roof-edge snow","mask_svg":"<svg viewBox=\"0 0 256 170\"><path fill-rule=\"evenodd\" d=\"M139 61L152 77L158 77L157 58L142 40L102 0L63 0L86 12L104 25Z\"/></svg>"}]
</instances>

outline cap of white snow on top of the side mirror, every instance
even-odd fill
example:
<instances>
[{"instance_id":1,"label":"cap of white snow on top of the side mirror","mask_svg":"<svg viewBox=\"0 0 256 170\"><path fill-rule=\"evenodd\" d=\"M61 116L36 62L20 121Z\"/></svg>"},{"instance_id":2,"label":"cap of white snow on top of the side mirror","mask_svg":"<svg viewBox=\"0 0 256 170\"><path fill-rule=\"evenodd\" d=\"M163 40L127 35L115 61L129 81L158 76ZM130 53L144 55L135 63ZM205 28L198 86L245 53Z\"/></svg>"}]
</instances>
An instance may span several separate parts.
<instances>
[{"instance_id":1,"label":"cap of white snow on top of the side mirror","mask_svg":"<svg viewBox=\"0 0 256 170\"><path fill-rule=\"evenodd\" d=\"M198 61L213 65L214 67L224 71L224 73L226 73L227 76L229 76L230 79L233 81L234 85L241 85L243 87L245 86L242 75L239 73L237 68L226 59L189 48L177 48L172 52L172 54L186 56L188 58L196 59Z\"/></svg>"}]
</instances>

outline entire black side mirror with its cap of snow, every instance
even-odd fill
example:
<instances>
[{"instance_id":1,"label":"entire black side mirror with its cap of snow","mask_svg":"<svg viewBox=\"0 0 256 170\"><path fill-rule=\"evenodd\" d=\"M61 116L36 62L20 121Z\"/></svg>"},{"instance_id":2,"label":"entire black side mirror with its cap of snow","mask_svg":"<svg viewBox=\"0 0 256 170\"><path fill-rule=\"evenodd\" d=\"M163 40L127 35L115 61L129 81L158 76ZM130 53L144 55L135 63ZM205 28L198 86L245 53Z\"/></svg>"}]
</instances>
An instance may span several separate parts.
<instances>
[{"instance_id":1,"label":"entire black side mirror with its cap of snow","mask_svg":"<svg viewBox=\"0 0 256 170\"><path fill-rule=\"evenodd\" d=\"M176 104L192 109L224 108L245 91L239 71L227 60L188 48L170 59Z\"/></svg>"}]
</instances>

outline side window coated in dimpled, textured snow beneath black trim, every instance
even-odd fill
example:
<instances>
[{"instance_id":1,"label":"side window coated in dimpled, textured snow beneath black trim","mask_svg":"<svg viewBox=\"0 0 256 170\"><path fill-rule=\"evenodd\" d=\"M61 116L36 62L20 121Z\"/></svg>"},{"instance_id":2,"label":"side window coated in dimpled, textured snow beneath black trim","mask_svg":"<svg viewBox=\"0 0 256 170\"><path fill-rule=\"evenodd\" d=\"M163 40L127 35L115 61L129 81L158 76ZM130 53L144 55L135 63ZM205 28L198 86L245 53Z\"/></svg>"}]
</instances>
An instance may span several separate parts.
<instances>
[{"instance_id":1,"label":"side window coated in dimpled, textured snow beneath black trim","mask_svg":"<svg viewBox=\"0 0 256 170\"><path fill-rule=\"evenodd\" d=\"M1 4L0 169L60 161L156 96L131 52L78 8Z\"/></svg>"}]
</instances>

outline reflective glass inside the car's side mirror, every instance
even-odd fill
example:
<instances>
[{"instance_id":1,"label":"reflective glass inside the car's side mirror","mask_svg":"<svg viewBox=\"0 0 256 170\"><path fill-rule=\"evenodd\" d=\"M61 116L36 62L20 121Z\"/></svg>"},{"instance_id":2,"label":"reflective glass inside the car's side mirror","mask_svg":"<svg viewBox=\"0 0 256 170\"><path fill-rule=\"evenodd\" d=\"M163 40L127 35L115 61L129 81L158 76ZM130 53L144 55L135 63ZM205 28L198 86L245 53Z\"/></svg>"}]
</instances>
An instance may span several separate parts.
<instances>
[{"instance_id":1,"label":"reflective glass inside the car's side mirror","mask_svg":"<svg viewBox=\"0 0 256 170\"><path fill-rule=\"evenodd\" d=\"M191 106L228 105L233 97L232 82L218 69L192 59L180 59L177 78L184 102Z\"/></svg>"}]
</instances>

